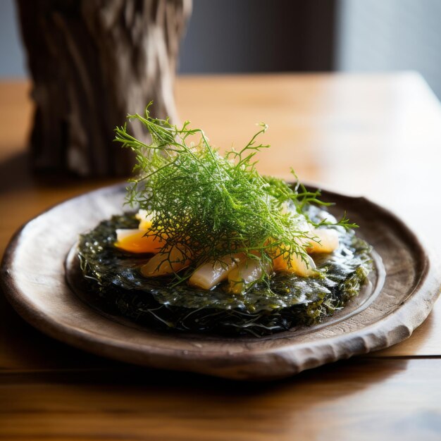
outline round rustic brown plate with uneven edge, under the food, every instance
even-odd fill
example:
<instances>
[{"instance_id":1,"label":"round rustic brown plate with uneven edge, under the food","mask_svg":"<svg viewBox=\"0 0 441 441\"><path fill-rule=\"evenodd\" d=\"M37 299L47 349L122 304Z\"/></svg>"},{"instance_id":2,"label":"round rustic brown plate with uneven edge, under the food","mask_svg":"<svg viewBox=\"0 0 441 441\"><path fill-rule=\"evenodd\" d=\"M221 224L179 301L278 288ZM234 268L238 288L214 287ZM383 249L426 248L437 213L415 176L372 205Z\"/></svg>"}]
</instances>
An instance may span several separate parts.
<instances>
[{"instance_id":1,"label":"round rustic brown plate with uneven edge, under the food","mask_svg":"<svg viewBox=\"0 0 441 441\"><path fill-rule=\"evenodd\" d=\"M58 340L134 364L225 378L282 378L330 361L383 349L409 337L439 294L440 274L413 232L364 198L323 192L335 215L360 225L375 271L359 299L321 325L270 337L226 338L159 333L105 316L75 295L66 256L78 235L120 213L124 186L70 199L27 223L11 240L1 266L9 301L25 320ZM75 265L70 254L69 265Z\"/></svg>"}]
</instances>

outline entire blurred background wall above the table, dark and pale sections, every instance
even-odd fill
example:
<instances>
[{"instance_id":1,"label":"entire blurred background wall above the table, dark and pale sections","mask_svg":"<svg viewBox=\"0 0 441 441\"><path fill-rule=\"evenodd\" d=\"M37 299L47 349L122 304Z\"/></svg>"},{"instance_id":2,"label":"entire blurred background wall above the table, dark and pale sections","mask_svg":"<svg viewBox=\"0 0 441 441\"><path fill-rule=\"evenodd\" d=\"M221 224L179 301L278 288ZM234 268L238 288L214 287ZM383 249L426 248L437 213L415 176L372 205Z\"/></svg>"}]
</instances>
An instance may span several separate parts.
<instances>
[{"instance_id":1,"label":"entire blurred background wall above the table, dark and pale sections","mask_svg":"<svg viewBox=\"0 0 441 441\"><path fill-rule=\"evenodd\" d=\"M193 1L180 73L418 70L441 98L440 0ZM1 0L0 77L26 75Z\"/></svg>"}]
</instances>

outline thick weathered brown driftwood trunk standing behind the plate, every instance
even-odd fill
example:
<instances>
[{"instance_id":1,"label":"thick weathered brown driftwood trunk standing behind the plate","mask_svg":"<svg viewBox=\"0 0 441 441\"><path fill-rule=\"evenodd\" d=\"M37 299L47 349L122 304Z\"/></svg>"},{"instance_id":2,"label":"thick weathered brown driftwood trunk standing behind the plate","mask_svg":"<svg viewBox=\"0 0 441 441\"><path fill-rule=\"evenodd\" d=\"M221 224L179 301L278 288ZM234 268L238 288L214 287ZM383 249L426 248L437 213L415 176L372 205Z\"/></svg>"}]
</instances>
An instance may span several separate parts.
<instances>
[{"instance_id":1,"label":"thick weathered brown driftwood trunk standing behind the plate","mask_svg":"<svg viewBox=\"0 0 441 441\"><path fill-rule=\"evenodd\" d=\"M113 129L151 100L155 116L176 120L173 82L191 1L17 0L34 82L35 170L130 173L132 154L112 142Z\"/></svg>"}]
</instances>

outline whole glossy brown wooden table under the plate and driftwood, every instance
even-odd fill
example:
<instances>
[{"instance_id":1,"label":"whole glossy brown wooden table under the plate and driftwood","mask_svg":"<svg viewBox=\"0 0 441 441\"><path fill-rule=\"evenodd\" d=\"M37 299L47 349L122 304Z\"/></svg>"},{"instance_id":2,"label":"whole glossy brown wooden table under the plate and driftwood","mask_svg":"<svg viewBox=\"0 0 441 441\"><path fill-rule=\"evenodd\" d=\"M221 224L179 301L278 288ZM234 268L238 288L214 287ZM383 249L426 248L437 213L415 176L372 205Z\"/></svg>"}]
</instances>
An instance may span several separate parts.
<instances>
[{"instance_id":1,"label":"whole glossy brown wooden table under the plate and driftwood","mask_svg":"<svg viewBox=\"0 0 441 441\"><path fill-rule=\"evenodd\" d=\"M25 221L111 181L27 171L25 82L0 83L0 254ZM363 194L441 249L441 110L415 73L180 77L182 118L220 147L268 123L263 173ZM42 256L44 258L44 256ZM390 349L276 383L235 383L92 356L0 297L0 440L440 440L441 302Z\"/></svg>"}]
</instances>

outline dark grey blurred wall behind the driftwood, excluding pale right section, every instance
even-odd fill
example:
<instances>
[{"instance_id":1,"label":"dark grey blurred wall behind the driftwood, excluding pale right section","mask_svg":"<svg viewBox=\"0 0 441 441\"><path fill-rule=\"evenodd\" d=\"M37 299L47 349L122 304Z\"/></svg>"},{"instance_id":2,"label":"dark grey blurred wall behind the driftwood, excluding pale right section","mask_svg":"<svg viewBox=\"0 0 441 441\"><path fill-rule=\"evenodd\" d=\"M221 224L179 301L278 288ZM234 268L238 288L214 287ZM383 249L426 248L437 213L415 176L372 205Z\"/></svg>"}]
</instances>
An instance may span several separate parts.
<instances>
[{"instance_id":1,"label":"dark grey blurred wall behind the driftwood, excluding pale right section","mask_svg":"<svg viewBox=\"0 0 441 441\"><path fill-rule=\"evenodd\" d=\"M181 73L331 68L335 0L193 0L193 5ZM25 75L17 29L13 0L0 0L0 76Z\"/></svg>"}]
</instances>

